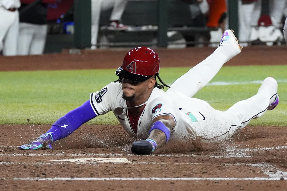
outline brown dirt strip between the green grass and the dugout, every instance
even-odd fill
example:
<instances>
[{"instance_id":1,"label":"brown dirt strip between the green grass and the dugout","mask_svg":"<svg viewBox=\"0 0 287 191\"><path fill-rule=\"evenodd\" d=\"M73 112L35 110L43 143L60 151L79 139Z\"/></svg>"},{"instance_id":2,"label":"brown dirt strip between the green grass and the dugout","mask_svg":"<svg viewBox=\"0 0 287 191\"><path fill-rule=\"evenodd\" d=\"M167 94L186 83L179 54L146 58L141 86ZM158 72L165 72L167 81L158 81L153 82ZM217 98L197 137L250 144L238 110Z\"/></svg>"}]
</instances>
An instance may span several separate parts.
<instances>
[{"instance_id":1,"label":"brown dirt strip between the green grass and the dugout","mask_svg":"<svg viewBox=\"0 0 287 191\"><path fill-rule=\"evenodd\" d=\"M161 60L161 67L193 67L215 48L189 47L185 49L162 49L155 51ZM68 50L59 54L39 56L0 56L0 71L17 70L75 70L75 69L117 69L129 49L112 50L82 50L80 54L69 54ZM227 66L233 65L281 65L286 64L287 46L253 46L245 47L240 56L228 61Z\"/></svg>"}]
</instances>

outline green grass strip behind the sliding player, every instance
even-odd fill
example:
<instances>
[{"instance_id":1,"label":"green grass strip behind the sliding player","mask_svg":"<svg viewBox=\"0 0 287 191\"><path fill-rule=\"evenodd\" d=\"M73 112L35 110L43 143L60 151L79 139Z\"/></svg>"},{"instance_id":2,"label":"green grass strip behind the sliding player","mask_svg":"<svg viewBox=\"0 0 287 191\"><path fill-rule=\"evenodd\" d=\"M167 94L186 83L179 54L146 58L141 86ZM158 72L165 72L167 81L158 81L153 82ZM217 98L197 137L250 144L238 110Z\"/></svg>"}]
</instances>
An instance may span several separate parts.
<instances>
[{"instance_id":1,"label":"green grass strip behind the sliding player","mask_svg":"<svg viewBox=\"0 0 287 191\"><path fill-rule=\"evenodd\" d=\"M160 76L165 83L172 84L189 69L161 68ZM234 83L262 81L272 75L279 82L280 104L250 125L286 126L286 71L287 65L225 66L211 82L233 84L207 85L194 97L207 101L215 109L226 110L237 101L256 94L260 86ZM87 101L90 93L116 79L115 69L0 72L0 124L53 124ZM110 112L88 124L118 124L118 121Z\"/></svg>"}]
</instances>

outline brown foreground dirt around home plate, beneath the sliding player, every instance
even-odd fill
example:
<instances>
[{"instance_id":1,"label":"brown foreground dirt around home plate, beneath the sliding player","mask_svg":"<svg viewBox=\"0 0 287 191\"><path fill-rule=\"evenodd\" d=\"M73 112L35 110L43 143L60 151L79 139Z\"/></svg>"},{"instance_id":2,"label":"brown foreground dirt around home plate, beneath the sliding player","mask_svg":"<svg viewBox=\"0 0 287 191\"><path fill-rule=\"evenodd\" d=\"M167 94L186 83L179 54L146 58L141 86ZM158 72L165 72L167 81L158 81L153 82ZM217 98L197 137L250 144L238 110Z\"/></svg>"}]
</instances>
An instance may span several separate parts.
<instances>
[{"instance_id":1,"label":"brown foreground dirt around home plate, beneath the sliding player","mask_svg":"<svg viewBox=\"0 0 287 191\"><path fill-rule=\"evenodd\" d=\"M287 188L286 127L247 127L216 144L170 141L149 156L132 155L134 140L120 126L83 126L53 150L15 147L43 129L49 126L0 127L1 190Z\"/></svg>"}]
</instances>

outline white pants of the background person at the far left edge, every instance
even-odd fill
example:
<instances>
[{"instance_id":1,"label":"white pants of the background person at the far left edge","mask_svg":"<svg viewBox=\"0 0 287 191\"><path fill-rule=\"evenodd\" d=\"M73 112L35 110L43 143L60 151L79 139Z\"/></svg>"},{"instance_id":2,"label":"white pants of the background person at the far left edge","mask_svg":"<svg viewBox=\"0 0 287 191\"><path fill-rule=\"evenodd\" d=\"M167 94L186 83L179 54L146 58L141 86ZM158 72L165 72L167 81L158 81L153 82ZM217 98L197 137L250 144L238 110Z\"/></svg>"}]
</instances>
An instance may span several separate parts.
<instances>
[{"instance_id":1,"label":"white pants of the background person at the far left edge","mask_svg":"<svg viewBox=\"0 0 287 191\"><path fill-rule=\"evenodd\" d=\"M0 7L0 44L4 56L15 56L19 33L19 12ZM0 46L1 47L1 46Z\"/></svg>"}]
</instances>

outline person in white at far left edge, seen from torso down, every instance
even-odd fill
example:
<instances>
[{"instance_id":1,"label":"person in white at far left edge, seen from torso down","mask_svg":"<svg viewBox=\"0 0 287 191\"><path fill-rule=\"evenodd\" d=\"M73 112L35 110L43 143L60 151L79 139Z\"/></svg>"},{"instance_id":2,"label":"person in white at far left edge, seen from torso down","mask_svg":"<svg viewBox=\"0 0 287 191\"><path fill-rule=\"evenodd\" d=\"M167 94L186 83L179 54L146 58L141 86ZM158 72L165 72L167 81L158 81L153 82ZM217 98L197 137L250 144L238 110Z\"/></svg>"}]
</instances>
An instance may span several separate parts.
<instances>
[{"instance_id":1,"label":"person in white at far left edge, seen from torso down","mask_svg":"<svg viewBox=\"0 0 287 191\"><path fill-rule=\"evenodd\" d=\"M19 33L19 0L0 0L0 52L15 56Z\"/></svg>"}]
</instances>

